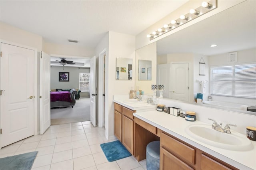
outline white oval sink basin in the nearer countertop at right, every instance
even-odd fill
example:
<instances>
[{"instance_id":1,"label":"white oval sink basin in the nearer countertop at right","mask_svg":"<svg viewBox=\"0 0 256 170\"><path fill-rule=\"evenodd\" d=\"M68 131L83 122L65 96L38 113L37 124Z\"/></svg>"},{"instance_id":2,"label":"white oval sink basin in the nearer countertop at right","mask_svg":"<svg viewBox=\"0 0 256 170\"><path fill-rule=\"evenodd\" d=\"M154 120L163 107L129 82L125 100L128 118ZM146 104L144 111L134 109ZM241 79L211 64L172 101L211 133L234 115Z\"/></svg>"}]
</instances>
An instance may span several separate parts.
<instances>
[{"instance_id":1,"label":"white oval sink basin in the nearer countertop at right","mask_svg":"<svg viewBox=\"0 0 256 170\"><path fill-rule=\"evenodd\" d=\"M196 140L227 150L245 151L253 148L251 141L244 134L234 132L231 134L212 129L211 125L189 125L185 128L186 133Z\"/></svg>"}]
</instances>

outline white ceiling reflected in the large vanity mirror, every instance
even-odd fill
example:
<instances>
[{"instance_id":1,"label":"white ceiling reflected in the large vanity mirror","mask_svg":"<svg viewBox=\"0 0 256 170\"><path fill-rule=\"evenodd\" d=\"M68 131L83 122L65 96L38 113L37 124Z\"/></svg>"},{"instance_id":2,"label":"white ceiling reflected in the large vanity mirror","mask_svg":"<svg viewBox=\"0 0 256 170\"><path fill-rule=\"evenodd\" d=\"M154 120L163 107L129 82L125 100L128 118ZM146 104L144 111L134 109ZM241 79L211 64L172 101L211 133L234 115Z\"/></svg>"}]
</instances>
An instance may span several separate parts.
<instances>
[{"instance_id":1,"label":"white ceiling reflected in the large vanity mirror","mask_svg":"<svg viewBox=\"0 0 256 170\"><path fill-rule=\"evenodd\" d=\"M256 1L248 0L157 41L158 55L216 55L256 47ZM216 44L216 47L210 45Z\"/></svg>"}]
</instances>

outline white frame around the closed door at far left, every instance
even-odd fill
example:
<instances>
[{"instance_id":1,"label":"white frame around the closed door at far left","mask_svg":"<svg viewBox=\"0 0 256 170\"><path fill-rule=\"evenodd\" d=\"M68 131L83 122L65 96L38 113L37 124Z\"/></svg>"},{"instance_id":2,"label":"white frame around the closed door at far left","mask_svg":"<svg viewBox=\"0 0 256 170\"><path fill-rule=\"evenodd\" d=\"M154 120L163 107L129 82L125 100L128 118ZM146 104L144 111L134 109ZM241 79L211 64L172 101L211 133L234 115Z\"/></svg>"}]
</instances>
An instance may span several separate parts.
<instances>
[{"instance_id":1,"label":"white frame around the closed door at far left","mask_svg":"<svg viewBox=\"0 0 256 170\"><path fill-rule=\"evenodd\" d=\"M40 132L38 131L38 114L40 113L40 111L38 109L40 109L40 103L39 102L39 94L38 94L38 57L40 57L40 54L38 54L38 50L34 47L30 47L27 45L22 45L19 43L14 43L14 42L10 42L10 41L6 41L6 40L2 40L0 39L0 43L6 43L9 45L14 45L14 46L18 46L18 47L22 47L22 48L27 48L27 49L31 49L34 50L34 135L35 134L39 134ZM1 49L1 45L0 45L0 51L2 51ZM40 69L40 68L39 68ZM0 79L1 79L1 59L0 59ZM39 87L40 88L40 87ZM1 86L0 86L1 89ZM1 103L1 97L0 97L0 103ZM1 110L0 110L0 115L1 115ZM0 116L0 127L1 127L1 116ZM0 146L1 146L1 135L0 135Z\"/></svg>"}]
</instances>

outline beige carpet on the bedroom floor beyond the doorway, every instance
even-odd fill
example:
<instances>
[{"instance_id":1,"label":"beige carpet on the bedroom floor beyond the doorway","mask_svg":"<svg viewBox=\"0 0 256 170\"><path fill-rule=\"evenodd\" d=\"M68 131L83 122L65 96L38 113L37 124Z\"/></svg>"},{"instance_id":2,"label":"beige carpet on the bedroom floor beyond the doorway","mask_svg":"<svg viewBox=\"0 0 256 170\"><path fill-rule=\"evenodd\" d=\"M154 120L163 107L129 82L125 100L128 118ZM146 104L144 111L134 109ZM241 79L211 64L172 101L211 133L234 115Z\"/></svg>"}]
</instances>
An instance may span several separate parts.
<instances>
[{"instance_id":1,"label":"beige carpet on the bedroom floor beyond the doorway","mask_svg":"<svg viewBox=\"0 0 256 170\"><path fill-rule=\"evenodd\" d=\"M90 121L90 98L76 100L74 107L51 109L51 125Z\"/></svg>"}]
</instances>

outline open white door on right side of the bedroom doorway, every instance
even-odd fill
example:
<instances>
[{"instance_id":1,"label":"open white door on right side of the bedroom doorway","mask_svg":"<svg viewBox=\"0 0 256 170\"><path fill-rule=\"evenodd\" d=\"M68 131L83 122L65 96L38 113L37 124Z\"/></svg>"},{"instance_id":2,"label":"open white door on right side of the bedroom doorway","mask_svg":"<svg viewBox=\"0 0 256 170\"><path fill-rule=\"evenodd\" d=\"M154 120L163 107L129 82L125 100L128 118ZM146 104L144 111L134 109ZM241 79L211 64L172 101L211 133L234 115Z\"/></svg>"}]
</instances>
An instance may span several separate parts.
<instances>
[{"instance_id":1,"label":"open white door on right side of the bedroom doorway","mask_svg":"<svg viewBox=\"0 0 256 170\"><path fill-rule=\"evenodd\" d=\"M96 57L91 58L91 67L90 67L90 121L92 125L96 126L96 79L95 79L95 70L96 70Z\"/></svg>"}]
</instances>

